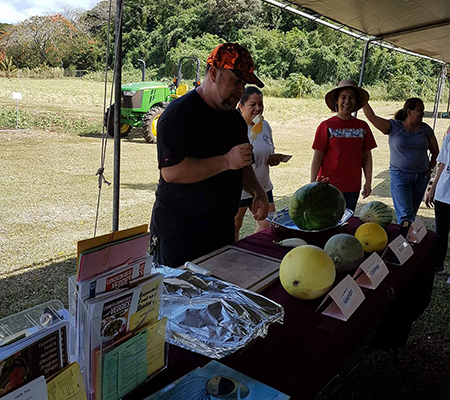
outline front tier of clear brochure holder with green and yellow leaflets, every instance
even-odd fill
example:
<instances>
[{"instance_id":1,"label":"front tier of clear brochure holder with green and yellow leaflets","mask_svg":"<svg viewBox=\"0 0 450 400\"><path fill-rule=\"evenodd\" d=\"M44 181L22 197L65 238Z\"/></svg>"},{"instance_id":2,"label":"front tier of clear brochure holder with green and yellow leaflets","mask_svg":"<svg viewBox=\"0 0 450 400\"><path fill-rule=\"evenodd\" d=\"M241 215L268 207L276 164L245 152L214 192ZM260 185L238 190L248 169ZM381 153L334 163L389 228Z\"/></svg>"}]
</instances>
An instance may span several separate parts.
<instances>
[{"instance_id":1,"label":"front tier of clear brochure holder with green and yellow leaflets","mask_svg":"<svg viewBox=\"0 0 450 400\"><path fill-rule=\"evenodd\" d=\"M69 349L88 400L120 399L167 366L170 318L159 315L165 288L160 274L145 278L87 300L76 276L69 278Z\"/></svg>"}]
</instances>

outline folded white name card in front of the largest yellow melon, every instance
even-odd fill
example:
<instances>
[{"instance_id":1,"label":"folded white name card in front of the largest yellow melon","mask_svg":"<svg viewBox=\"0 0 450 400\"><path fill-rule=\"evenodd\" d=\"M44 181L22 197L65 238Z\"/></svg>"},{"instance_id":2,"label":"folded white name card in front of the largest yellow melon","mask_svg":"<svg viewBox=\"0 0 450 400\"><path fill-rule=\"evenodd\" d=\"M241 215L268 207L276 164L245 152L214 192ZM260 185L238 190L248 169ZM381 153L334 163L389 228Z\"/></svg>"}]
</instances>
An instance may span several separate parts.
<instances>
[{"instance_id":1,"label":"folded white name card in front of the largest yellow melon","mask_svg":"<svg viewBox=\"0 0 450 400\"><path fill-rule=\"evenodd\" d=\"M347 321L363 302L365 296L354 279L350 275L347 275L325 296L316 311L322 307L328 299L331 299L331 304L322 312L322 314L340 319L341 321Z\"/></svg>"}]
</instances>

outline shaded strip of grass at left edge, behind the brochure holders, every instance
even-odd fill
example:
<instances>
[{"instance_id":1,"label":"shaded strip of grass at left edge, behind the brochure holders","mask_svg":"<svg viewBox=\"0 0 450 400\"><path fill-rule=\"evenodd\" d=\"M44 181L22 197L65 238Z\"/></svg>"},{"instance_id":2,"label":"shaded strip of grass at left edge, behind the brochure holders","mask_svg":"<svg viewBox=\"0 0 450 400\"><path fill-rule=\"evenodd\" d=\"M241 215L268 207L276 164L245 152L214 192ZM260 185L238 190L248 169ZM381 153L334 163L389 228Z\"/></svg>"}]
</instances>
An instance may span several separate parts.
<instances>
[{"instance_id":1,"label":"shaded strip of grass at left edge, behind the brochure holders","mask_svg":"<svg viewBox=\"0 0 450 400\"><path fill-rule=\"evenodd\" d=\"M0 279L0 318L49 300L61 300L67 307L68 278L75 273L76 257L73 257L48 260L26 272Z\"/></svg>"}]
</instances>

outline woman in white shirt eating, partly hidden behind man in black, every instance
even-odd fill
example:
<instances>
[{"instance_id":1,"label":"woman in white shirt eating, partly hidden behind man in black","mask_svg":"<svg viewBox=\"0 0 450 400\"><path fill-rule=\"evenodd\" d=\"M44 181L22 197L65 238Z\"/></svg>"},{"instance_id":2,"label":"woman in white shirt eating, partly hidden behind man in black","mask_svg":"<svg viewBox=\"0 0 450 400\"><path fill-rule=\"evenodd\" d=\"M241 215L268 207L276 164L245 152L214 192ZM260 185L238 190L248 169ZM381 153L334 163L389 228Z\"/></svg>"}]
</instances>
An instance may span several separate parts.
<instances>
[{"instance_id":1,"label":"woman in white shirt eating, partly hidden behind man in black","mask_svg":"<svg viewBox=\"0 0 450 400\"><path fill-rule=\"evenodd\" d=\"M254 163L253 169L259 183L267 193L269 200L269 212L275 211L272 189L273 185L270 181L269 167L278 165L284 157L282 154L273 154L275 146L273 144L272 129L267 121L255 124L255 117L262 116L264 111L263 94L254 86L247 87L239 102L239 110L247 122L248 138L253 145ZM257 120L263 118L257 117ZM258 126L259 125L259 126ZM258 129L259 128L259 129ZM252 132L253 130L253 132ZM247 209L250 209L253 203L253 197L247 192L242 191L239 211L234 219L235 222L235 238L239 240L239 231L242 227L244 215ZM255 232L259 232L269 226L266 220L257 221Z\"/></svg>"}]
</instances>

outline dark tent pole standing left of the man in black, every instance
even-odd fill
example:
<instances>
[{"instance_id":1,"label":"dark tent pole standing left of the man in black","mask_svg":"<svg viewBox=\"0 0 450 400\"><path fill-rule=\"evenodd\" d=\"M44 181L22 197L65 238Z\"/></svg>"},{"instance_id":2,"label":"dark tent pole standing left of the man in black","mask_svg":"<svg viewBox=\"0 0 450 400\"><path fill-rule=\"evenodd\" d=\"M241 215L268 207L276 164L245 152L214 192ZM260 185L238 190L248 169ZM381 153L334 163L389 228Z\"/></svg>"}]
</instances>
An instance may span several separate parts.
<instances>
[{"instance_id":1,"label":"dark tent pole standing left of the man in black","mask_svg":"<svg viewBox=\"0 0 450 400\"><path fill-rule=\"evenodd\" d=\"M122 114L122 7L123 1L116 2L116 40L114 70L114 186L113 186L113 231L119 230L120 193L120 117Z\"/></svg>"}]
</instances>

